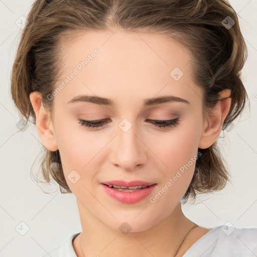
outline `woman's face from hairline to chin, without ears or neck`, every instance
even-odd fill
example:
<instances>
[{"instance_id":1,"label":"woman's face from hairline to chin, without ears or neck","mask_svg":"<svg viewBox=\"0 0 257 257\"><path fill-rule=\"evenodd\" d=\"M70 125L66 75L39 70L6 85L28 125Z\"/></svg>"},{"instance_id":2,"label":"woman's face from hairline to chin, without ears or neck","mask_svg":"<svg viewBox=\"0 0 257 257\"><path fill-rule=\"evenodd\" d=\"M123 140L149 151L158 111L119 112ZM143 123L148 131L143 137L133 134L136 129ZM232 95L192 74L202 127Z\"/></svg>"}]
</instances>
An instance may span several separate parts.
<instances>
[{"instance_id":1,"label":"woman's face from hairline to chin, without ears or neck","mask_svg":"<svg viewBox=\"0 0 257 257\"><path fill-rule=\"evenodd\" d=\"M202 91L190 53L163 35L122 31L81 33L61 53L53 127L80 211L114 230L156 225L185 194L197 159ZM91 128L79 119L104 121ZM114 180L155 185L131 193L102 184Z\"/></svg>"}]
</instances>

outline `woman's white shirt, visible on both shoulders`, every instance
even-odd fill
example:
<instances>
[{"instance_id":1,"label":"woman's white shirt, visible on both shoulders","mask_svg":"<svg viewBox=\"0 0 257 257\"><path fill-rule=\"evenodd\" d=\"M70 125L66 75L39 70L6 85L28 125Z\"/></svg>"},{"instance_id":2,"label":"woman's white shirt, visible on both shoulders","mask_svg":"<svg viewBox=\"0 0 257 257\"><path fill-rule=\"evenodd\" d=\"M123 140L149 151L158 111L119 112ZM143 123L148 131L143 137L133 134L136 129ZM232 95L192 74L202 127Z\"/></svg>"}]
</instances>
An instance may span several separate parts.
<instances>
[{"instance_id":1,"label":"woman's white shirt, visible on both shoulders","mask_svg":"<svg viewBox=\"0 0 257 257\"><path fill-rule=\"evenodd\" d=\"M72 241L79 233L68 236L59 246L41 257L77 257ZM257 228L218 226L196 241L182 257L256 257Z\"/></svg>"}]
</instances>

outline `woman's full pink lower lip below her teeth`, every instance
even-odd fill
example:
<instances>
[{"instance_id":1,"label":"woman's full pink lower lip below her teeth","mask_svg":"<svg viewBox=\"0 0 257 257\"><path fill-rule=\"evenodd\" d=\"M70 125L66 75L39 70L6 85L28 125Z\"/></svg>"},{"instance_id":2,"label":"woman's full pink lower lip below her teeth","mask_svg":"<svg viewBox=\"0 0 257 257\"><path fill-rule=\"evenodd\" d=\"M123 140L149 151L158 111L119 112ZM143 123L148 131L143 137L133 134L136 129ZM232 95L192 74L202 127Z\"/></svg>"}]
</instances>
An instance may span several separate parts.
<instances>
[{"instance_id":1,"label":"woman's full pink lower lip below her teeth","mask_svg":"<svg viewBox=\"0 0 257 257\"><path fill-rule=\"evenodd\" d=\"M101 184L101 185L103 186L103 189L105 190L105 192L108 195L110 195L112 198L122 203L136 203L146 198L149 194L151 194L157 184L154 184L152 186L149 186L147 188L140 189L134 192L123 192L123 191L119 191L111 187L108 187L104 184Z\"/></svg>"}]
</instances>

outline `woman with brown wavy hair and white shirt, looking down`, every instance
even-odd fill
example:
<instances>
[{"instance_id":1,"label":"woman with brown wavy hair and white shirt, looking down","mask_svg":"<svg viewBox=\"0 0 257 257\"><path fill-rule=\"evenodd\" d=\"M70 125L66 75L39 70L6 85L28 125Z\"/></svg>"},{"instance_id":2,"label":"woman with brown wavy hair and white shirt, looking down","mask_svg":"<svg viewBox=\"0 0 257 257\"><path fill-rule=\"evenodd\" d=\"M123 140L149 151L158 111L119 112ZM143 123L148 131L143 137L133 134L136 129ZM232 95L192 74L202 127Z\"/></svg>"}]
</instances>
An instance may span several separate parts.
<instances>
[{"instance_id":1,"label":"woman with brown wavy hair and white shirt, looking down","mask_svg":"<svg viewBox=\"0 0 257 257\"><path fill-rule=\"evenodd\" d=\"M36 1L12 96L82 225L44 256L257 254L257 228L208 229L181 210L228 180L216 141L247 100L245 57L221 0Z\"/></svg>"}]
</instances>

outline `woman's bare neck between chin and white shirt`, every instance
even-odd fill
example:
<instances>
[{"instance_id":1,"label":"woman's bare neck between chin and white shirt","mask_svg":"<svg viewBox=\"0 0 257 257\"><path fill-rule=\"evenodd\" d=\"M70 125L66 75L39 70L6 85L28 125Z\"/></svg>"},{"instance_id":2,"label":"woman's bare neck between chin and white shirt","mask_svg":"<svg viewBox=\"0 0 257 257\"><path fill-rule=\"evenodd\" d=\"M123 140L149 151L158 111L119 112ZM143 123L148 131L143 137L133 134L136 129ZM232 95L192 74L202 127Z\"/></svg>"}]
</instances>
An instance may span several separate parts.
<instances>
[{"instance_id":1,"label":"woman's bare neck between chin and white shirt","mask_svg":"<svg viewBox=\"0 0 257 257\"><path fill-rule=\"evenodd\" d=\"M144 231L126 234L97 220L79 202L78 208L82 232L73 241L78 257L174 256L187 232L196 225L185 217L180 202L173 212L158 224ZM183 250L185 251L185 247Z\"/></svg>"}]
</instances>

